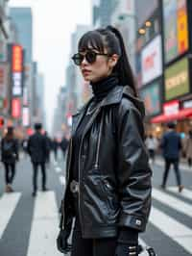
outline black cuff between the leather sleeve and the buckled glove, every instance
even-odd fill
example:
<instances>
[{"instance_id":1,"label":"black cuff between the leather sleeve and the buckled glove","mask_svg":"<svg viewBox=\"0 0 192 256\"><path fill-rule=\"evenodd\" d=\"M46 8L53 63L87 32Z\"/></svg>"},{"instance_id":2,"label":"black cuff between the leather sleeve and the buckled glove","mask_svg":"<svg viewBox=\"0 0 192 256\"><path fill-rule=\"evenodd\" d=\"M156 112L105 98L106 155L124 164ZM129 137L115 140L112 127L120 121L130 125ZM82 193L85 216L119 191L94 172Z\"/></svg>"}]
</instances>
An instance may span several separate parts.
<instances>
[{"instance_id":1,"label":"black cuff between the leather sleeve and the buckled glove","mask_svg":"<svg viewBox=\"0 0 192 256\"><path fill-rule=\"evenodd\" d=\"M120 227L118 243L138 244L138 230Z\"/></svg>"}]
</instances>

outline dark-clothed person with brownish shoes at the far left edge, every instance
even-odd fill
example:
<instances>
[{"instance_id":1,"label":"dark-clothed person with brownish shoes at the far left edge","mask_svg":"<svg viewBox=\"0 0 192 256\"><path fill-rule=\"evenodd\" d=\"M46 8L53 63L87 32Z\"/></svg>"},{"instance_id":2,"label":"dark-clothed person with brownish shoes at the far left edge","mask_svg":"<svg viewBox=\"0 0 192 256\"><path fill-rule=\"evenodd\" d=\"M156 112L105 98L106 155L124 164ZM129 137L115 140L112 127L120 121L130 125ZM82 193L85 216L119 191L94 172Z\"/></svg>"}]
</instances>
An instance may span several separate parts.
<instances>
[{"instance_id":1,"label":"dark-clothed person with brownish shoes at the far left edge","mask_svg":"<svg viewBox=\"0 0 192 256\"><path fill-rule=\"evenodd\" d=\"M8 127L6 136L1 141L1 161L5 166L5 192L13 192L12 182L15 176L15 163L18 161L18 142L13 135L13 127Z\"/></svg>"}]
</instances>

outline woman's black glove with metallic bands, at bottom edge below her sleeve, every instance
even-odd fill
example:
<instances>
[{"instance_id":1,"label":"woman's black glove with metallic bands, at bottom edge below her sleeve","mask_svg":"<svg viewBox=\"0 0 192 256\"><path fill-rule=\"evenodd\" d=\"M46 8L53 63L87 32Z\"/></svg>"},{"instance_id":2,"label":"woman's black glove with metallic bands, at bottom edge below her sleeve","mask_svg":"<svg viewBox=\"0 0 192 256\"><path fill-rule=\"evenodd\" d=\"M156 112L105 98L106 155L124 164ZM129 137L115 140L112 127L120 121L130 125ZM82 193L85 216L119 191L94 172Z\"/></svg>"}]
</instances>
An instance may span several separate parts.
<instances>
[{"instance_id":1,"label":"woman's black glove with metallic bands, at bottom edge below her sleeve","mask_svg":"<svg viewBox=\"0 0 192 256\"><path fill-rule=\"evenodd\" d=\"M138 256L138 245L132 243L117 243L115 256Z\"/></svg>"}]
</instances>

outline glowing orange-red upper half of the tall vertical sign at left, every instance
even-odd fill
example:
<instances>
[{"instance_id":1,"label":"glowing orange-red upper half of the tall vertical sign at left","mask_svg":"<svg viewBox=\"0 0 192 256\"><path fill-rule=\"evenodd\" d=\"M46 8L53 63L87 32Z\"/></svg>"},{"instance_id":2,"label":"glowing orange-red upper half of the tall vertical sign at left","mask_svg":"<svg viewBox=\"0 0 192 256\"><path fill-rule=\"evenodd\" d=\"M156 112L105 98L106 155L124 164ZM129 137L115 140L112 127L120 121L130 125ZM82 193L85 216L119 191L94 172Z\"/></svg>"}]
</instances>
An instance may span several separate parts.
<instances>
[{"instance_id":1,"label":"glowing orange-red upper half of the tall vertical sign at left","mask_svg":"<svg viewBox=\"0 0 192 256\"><path fill-rule=\"evenodd\" d=\"M12 46L12 72L23 71L23 51L20 45Z\"/></svg>"}]
</instances>

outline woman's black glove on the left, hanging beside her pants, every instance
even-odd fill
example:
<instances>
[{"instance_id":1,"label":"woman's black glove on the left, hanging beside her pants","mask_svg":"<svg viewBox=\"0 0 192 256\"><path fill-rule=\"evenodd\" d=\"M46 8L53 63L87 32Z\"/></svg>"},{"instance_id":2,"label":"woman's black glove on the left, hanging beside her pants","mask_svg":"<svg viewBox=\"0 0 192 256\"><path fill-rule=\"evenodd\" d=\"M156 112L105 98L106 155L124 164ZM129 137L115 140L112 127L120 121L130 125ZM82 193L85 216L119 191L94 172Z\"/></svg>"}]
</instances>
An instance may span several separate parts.
<instances>
[{"instance_id":1,"label":"woman's black glove on the left, hanging beside her pants","mask_svg":"<svg viewBox=\"0 0 192 256\"><path fill-rule=\"evenodd\" d=\"M60 234L57 238L57 246L61 253L66 254L71 250L71 244L67 242L70 236L70 232L60 229Z\"/></svg>"}]
</instances>

